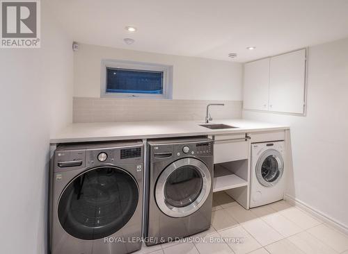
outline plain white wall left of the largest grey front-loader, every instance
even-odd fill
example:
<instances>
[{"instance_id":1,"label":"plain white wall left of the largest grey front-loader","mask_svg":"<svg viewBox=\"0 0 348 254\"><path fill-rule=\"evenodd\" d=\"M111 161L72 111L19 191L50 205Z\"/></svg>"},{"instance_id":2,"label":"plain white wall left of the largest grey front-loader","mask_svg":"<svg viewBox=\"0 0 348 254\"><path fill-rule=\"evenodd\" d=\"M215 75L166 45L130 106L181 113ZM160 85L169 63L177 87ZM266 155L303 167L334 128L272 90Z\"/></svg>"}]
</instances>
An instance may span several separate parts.
<instances>
[{"instance_id":1,"label":"plain white wall left of the largest grey front-loader","mask_svg":"<svg viewBox=\"0 0 348 254\"><path fill-rule=\"evenodd\" d=\"M72 121L72 41L42 8L41 49L0 49L0 253L47 253L49 136Z\"/></svg>"}]
</instances>

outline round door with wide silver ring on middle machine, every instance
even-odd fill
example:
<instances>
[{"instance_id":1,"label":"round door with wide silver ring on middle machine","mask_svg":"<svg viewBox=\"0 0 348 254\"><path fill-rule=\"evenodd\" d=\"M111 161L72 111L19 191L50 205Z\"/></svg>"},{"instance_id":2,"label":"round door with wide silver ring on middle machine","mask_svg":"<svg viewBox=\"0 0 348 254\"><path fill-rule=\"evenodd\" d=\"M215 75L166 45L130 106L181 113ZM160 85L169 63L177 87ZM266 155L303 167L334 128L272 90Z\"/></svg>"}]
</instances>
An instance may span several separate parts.
<instances>
[{"instance_id":1,"label":"round door with wide silver ring on middle machine","mask_svg":"<svg viewBox=\"0 0 348 254\"><path fill-rule=\"evenodd\" d=\"M195 158L168 165L157 180L155 198L159 209L171 217L196 212L207 200L212 177L207 166Z\"/></svg>"}]
</instances>

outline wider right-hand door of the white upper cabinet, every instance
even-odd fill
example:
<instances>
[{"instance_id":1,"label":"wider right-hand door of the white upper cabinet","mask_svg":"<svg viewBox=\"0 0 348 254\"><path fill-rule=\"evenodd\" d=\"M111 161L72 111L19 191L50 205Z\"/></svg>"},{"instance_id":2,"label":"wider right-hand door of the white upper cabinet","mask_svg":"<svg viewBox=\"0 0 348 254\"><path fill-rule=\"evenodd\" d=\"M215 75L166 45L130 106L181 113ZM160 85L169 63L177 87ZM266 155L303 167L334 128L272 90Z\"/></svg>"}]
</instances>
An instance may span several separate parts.
<instances>
[{"instance_id":1,"label":"wider right-hand door of the white upper cabinet","mask_svg":"<svg viewBox=\"0 0 348 254\"><path fill-rule=\"evenodd\" d=\"M303 114L306 49L271 58L269 110Z\"/></svg>"}]
</instances>

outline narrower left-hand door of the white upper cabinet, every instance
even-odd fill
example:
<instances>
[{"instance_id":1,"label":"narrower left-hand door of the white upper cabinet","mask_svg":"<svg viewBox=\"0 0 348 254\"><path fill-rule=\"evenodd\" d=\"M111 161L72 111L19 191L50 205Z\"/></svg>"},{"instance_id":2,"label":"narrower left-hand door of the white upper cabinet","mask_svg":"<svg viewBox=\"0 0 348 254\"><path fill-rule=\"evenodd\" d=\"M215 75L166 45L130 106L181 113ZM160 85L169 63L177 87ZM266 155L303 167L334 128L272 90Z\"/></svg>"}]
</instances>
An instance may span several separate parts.
<instances>
[{"instance_id":1,"label":"narrower left-hand door of the white upper cabinet","mask_svg":"<svg viewBox=\"0 0 348 254\"><path fill-rule=\"evenodd\" d=\"M244 108L268 110L269 58L244 65Z\"/></svg>"}]
</instances>

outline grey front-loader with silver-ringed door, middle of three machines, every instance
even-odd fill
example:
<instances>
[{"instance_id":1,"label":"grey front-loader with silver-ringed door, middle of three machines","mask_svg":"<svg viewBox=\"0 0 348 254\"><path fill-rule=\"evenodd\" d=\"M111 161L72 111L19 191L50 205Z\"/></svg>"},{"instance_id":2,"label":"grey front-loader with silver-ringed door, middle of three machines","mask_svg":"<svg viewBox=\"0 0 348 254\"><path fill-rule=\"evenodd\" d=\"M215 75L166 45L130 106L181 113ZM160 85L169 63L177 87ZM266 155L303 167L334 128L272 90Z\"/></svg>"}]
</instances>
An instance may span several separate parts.
<instances>
[{"instance_id":1,"label":"grey front-loader with silver-ringed door, middle of three machines","mask_svg":"<svg viewBox=\"0 0 348 254\"><path fill-rule=\"evenodd\" d=\"M146 244L207 230L212 217L212 139L166 139L148 144Z\"/></svg>"}]
</instances>

